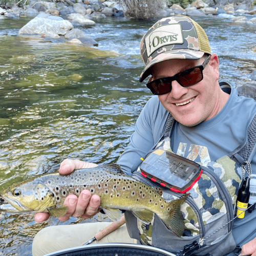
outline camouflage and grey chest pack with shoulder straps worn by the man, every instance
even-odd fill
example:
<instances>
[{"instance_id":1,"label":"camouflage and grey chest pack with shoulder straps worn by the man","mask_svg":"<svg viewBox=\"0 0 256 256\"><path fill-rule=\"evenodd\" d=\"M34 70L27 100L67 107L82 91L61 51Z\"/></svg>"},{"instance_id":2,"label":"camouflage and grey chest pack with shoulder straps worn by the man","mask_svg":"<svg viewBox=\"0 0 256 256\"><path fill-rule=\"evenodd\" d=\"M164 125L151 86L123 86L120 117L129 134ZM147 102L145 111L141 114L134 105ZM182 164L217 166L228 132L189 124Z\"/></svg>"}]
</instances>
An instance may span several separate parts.
<instances>
[{"instance_id":1,"label":"camouflage and grey chest pack with shoulder straps worn by the man","mask_svg":"<svg viewBox=\"0 0 256 256\"><path fill-rule=\"evenodd\" d=\"M147 156L159 149L172 152L170 134L174 122L174 118L169 115L162 137ZM203 165L200 179L186 192L190 195L181 205L185 224L182 237L175 236L157 215L150 225L145 225L130 212L125 212L130 236L143 244L173 253L184 250L187 245L193 247L195 241L200 244L199 249L194 248L195 255L221 256L236 249L232 236L232 220L236 216L236 202L243 173L256 151L256 118L252 117L247 127L244 142L226 156ZM157 186L155 182L141 175L140 168L133 177L153 187ZM163 190L165 200L182 197L182 194L168 188Z\"/></svg>"}]
</instances>

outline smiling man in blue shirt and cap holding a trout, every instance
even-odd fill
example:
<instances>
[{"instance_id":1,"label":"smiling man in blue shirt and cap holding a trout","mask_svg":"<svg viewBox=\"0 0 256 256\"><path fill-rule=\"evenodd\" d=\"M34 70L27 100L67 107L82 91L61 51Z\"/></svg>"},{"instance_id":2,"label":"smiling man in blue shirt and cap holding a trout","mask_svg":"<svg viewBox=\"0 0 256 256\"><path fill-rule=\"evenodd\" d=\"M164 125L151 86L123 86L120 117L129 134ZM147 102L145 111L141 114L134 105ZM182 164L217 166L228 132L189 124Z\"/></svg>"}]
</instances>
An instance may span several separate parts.
<instances>
[{"instance_id":1,"label":"smiling man in blue shirt and cap holding a trout","mask_svg":"<svg viewBox=\"0 0 256 256\"><path fill-rule=\"evenodd\" d=\"M168 140L169 147L180 156L207 164L242 144L247 133L247 121L256 113L256 103L252 99L238 97L234 88L229 91L221 89L218 56L211 54L208 38L194 20L185 16L159 20L143 36L140 51L146 65L140 82L151 75L147 87L157 96L146 103L136 122L131 142L118 160L124 172L129 175L136 172L142 163L141 158L152 150L161 137L169 113L176 120ZM254 157L251 161L254 174L255 160ZM59 172L69 174L77 168L94 166L94 163L67 159L61 163ZM69 211L59 218L61 221L68 220L72 215L87 219L99 211L100 198L83 190L78 199L74 195L67 197L65 204L69 206ZM128 217L125 215L129 234L140 240L130 227L137 223L132 223ZM243 245L242 255L256 255L255 217L256 211L246 212L244 219L233 221L233 237L237 245ZM48 218L46 213L35 216L37 222ZM99 224L90 225L49 227L40 231L33 243L33 255L80 245L75 234L83 237L90 231L87 237L83 237L86 241L100 230ZM125 226L106 239L109 242L137 243L128 236ZM54 246L46 248L48 240L54 240ZM154 245L152 240L152 237L149 238L146 244ZM39 252L42 243L44 249ZM230 252L227 255L236 254Z\"/></svg>"}]
</instances>

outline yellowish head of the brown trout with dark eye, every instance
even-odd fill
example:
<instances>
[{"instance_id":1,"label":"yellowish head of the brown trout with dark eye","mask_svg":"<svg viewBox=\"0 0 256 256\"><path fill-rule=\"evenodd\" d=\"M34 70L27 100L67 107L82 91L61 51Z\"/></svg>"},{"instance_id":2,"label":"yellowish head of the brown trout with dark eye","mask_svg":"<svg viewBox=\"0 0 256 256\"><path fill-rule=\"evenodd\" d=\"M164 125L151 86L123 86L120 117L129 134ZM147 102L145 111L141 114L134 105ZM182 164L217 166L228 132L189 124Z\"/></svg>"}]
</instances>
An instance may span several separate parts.
<instances>
[{"instance_id":1,"label":"yellowish head of the brown trout with dark eye","mask_svg":"<svg viewBox=\"0 0 256 256\"><path fill-rule=\"evenodd\" d=\"M44 183L33 181L12 185L1 191L0 197L4 200L0 210L6 212L47 211L49 207L55 205L50 188Z\"/></svg>"}]
</instances>

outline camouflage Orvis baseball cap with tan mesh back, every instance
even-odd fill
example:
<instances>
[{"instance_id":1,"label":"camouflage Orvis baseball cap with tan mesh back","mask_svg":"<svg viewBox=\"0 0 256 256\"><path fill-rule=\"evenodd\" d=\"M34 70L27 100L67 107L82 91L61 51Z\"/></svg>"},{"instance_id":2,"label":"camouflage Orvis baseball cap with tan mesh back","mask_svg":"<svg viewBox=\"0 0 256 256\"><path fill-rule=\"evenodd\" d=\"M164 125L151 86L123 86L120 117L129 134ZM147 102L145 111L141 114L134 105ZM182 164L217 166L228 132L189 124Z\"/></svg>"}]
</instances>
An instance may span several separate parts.
<instances>
[{"instance_id":1,"label":"camouflage Orvis baseball cap with tan mesh back","mask_svg":"<svg viewBox=\"0 0 256 256\"><path fill-rule=\"evenodd\" d=\"M140 54L146 65L140 82L151 74L154 64L167 59L200 59L211 54L209 41L202 27L187 16L158 20L142 37Z\"/></svg>"}]
</instances>

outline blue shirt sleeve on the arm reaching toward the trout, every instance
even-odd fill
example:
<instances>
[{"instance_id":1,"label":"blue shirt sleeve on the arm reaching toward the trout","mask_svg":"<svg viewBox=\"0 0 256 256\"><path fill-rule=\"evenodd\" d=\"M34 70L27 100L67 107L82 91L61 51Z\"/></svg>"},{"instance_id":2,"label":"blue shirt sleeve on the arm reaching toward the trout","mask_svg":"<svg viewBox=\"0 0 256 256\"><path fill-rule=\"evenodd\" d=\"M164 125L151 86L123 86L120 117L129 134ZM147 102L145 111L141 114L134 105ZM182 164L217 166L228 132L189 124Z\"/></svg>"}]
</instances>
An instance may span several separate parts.
<instances>
[{"instance_id":1,"label":"blue shirt sleeve on the arm reaching toward the trout","mask_svg":"<svg viewBox=\"0 0 256 256\"><path fill-rule=\"evenodd\" d=\"M136 121L130 143L117 161L127 175L131 176L137 170L142 163L141 158L159 140L167 116L167 111L164 110L157 96L147 101Z\"/></svg>"}]
</instances>

